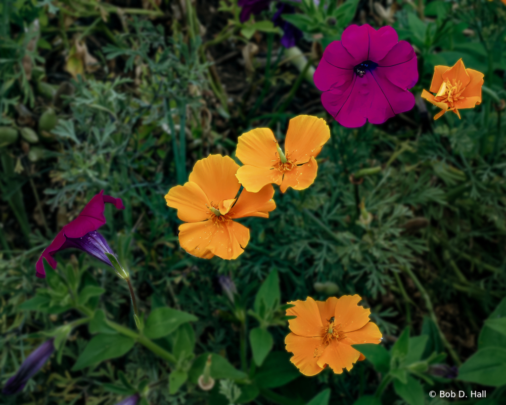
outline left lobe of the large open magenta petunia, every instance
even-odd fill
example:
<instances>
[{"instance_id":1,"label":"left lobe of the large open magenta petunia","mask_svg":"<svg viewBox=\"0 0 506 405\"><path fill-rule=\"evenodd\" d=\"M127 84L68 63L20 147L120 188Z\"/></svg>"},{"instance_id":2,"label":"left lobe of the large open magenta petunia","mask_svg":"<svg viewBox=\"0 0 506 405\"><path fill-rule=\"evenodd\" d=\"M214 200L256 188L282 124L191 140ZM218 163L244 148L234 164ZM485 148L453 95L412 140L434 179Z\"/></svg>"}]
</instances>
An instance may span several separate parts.
<instances>
[{"instance_id":1,"label":"left lobe of the large open magenta petunia","mask_svg":"<svg viewBox=\"0 0 506 405\"><path fill-rule=\"evenodd\" d=\"M330 88L339 87L353 79L353 67L357 62L343 47L341 41L333 41L325 48L313 75L315 85L322 92Z\"/></svg>"}]
</instances>

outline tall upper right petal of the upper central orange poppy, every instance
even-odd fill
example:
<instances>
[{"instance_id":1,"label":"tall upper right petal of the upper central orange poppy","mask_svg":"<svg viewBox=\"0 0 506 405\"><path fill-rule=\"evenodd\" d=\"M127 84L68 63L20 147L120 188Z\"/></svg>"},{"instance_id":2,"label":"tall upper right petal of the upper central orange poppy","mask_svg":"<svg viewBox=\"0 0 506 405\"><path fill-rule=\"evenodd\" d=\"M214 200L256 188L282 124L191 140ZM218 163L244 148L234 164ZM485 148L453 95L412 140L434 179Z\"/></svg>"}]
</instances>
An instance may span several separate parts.
<instances>
[{"instance_id":1,"label":"tall upper right petal of the upper central orange poppy","mask_svg":"<svg viewBox=\"0 0 506 405\"><path fill-rule=\"evenodd\" d=\"M309 162L330 138L330 129L323 118L299 115L290 119L286 131L285 155L293 163Z\"/></svg>"}]
</instances>

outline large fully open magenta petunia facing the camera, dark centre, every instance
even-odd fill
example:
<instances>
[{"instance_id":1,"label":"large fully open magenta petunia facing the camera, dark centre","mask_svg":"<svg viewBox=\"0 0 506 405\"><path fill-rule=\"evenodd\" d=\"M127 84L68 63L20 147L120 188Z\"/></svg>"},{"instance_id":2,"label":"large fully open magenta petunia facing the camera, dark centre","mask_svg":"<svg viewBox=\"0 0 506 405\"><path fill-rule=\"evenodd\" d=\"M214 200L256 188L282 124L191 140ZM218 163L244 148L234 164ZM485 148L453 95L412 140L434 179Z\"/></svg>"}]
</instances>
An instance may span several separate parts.
<instances>
[{"instance_id":1,"label":"large fully open magenta petunia facing the camera, dark centre","mask_svg":"<svg viewBox=\"0 0 506 405\"><path fill-rule=\"evenodd\" d=\"M314 74L323 107L341 125L381 124L414 106L416 55L386 26L350 25L325 49Z\"/></svg>"}]
</instances>

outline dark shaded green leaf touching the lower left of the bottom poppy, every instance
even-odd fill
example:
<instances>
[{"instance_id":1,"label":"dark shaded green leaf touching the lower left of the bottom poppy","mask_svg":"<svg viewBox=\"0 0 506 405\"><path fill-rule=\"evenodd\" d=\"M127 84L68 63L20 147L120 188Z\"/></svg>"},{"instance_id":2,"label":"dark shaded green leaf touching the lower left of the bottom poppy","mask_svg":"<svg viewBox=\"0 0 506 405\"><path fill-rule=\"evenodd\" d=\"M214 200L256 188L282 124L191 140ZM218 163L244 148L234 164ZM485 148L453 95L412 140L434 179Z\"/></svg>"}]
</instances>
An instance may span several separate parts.
<instances>
[{"instance_id":1,"label":"dark shaded green leaf touching the lower left of the bottom poppy","mask_svg":"<svg viewBox=\"0 0 506 405\"><path fill-rule=\"evenodd\" d=\"M254 379L259 388L276 388L301 376L297 367L290 362L291 353L273 351L269 353Z\"/></svg>"}]
</instances>

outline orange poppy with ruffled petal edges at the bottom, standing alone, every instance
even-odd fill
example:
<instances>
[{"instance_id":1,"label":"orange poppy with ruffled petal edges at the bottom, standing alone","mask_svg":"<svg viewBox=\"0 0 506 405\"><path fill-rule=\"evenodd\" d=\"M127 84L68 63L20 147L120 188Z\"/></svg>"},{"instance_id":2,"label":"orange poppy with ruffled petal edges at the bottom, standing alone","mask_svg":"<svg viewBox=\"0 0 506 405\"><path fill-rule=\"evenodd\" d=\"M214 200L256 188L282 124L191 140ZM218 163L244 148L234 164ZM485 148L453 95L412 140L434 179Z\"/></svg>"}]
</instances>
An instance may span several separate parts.
<instances>
[{"instance_id":1,"label":"orange poppy with ruffled petal edges at the bottom, standing alone","mask_svg":"<svg viewBox=\"0 0 506 405\"><path fill-rule=\"evenodd\" d=\"M359 295L329 297L326 301L293 301L287 315L291 333L285 338L286 350L293 353L290 361L306 376L314 376L327 365L336 374L350 371L353 364L365 357L351 347L358 343L379 343L382 334L369 322L369 309L358 306Z\"/></svg>"}]
</instances>

